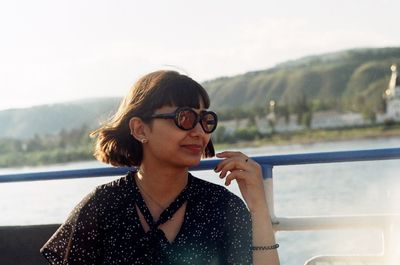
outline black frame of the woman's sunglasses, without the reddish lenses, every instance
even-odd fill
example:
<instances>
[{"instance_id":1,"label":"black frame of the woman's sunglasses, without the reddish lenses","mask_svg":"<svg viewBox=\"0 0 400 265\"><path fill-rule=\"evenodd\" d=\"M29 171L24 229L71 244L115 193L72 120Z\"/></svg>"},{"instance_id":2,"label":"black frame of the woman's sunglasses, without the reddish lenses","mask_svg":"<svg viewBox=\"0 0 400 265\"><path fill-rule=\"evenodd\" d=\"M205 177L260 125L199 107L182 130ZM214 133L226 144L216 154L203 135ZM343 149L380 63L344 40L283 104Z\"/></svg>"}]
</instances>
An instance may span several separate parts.
<instances>
[{"instance_id":1,"label":"black frame of the woman's sunglasses, without the reddish lenses","mask_svg":"<svg viewBox=\"0 0 400 265\"><path fill-rule=\"evenodd\" d=\"M195 116L195 120L192 123L191 128L184 128L182 127L182 125L179 123L179 115L182 111L189 111L191 113L194 114ZM207 126L203 124L202 120L206 115L211 115L213 116L214 120L214 127L212 128L212 130L208 130ZM191 129L193 129L194 127L196 127L197 123L200 122L201 128L203 128L203 131L205 133L212 133L213 131L215 131L215 129L217 128L217 124L218 124L218 117L217 114L213 111L202 111L199 113L197 113L196 111L194 111L192 108L189 107L180 107L177 108L174 112L172 113L160 113L160 114L153 114L150 118L152 119L173 119L175 121L175 125L176 127L178 127L181 130L184 131L189 131ZM207 121L206 121L207 122Z\"/></svg>"}]
</instances>

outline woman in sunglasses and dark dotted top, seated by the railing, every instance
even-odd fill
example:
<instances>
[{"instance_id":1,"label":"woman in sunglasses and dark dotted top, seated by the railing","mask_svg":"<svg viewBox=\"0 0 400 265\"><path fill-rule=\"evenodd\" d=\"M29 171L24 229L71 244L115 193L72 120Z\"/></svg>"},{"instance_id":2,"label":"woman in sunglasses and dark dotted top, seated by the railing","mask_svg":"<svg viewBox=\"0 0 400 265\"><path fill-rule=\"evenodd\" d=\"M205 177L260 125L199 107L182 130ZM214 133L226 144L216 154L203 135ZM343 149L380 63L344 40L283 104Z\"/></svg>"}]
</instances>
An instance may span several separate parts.
<instances>
[{"instance_id":1,"label":"woman in sunglasses and dark dotted top, seated by the railing","mask_svg":"<svg viewBox=\"0 0 400 265\"><path fill-rule=\"evenodd\" d=\"M142 77L92 136L95 156L136 168L86 196L41 249L51 264L278 264L260 166L222 152L215 168L245 204L189 167L214 156L204 88L173 71Z\"/></svg>"}]
</instances>

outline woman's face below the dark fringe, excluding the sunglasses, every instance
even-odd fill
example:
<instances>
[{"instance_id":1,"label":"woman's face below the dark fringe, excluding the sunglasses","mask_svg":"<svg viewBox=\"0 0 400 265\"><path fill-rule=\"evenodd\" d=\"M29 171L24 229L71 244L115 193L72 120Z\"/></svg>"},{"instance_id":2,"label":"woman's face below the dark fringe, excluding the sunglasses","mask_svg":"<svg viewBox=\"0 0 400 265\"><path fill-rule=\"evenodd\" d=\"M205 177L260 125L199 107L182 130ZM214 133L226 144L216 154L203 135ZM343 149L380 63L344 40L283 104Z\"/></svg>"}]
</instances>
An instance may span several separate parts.
<instances>
[{"instance_id":1,"label":"woman's face below the dark fringe, excluding the sunglasses","mask_svg":"<svg viewBox=\"0 0 400 265\"><path fill-rule=\"evenodd\" d=\"M172 113L174 106L164 106L154 114ZM204 110L203 104L199 109ZM148 142L143 144L143 162L159 163L176 167L191 167L199 164L211 135L205 133L200 123L191 130L178 128L173 119L153 119L146 126Z\"/></svg>"}]
</instances>

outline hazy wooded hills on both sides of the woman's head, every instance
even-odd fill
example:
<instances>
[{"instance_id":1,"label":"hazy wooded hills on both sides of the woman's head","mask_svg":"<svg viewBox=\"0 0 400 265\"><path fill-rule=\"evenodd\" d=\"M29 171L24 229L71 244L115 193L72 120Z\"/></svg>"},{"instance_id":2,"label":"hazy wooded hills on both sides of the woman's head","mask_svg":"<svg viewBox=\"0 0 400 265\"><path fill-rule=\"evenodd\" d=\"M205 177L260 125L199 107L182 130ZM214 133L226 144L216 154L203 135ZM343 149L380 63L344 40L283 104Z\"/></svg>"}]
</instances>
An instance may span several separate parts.
<instances>
[{"instance_id":1,"label":"hazy wooded hills on both sides of the woman's head","mask_svg":"<svg viewBox=\"0 0 400 265\"><path fill-rule=\"evenodd\" d=\"M315 55L273 68L221 77L203 83L220 114L232 110L265 109L275 100L278 108L296 113L299 104L314 110L382 111L390 66L400 65L400 47L354 49ZM118 106L119 98L0 111L0 138L31 138L63 129L96 127ZM221 115L222 116L222 115Z\"/></svg>"}]
</instances>

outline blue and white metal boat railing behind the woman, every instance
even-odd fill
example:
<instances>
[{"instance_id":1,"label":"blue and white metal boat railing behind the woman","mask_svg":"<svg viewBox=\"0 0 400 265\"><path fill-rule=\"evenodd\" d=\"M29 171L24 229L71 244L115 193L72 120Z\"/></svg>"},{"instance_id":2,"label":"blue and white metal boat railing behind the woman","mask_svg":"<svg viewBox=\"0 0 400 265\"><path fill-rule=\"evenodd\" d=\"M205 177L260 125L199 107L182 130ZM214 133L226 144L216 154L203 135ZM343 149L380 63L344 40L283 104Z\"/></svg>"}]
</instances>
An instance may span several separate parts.
<instances>
[{"instance_id":1,"label":"blue and white metal boat railing behind the woman","mask_svg":"<svg viewBox=\"0 0 400 265\"><path fill-rule=\"evenodd\" d=\"M276 217L273 198L273 168L284 165L337 163L356 161L375 161L400 159L400 148L356 150L341 152L323 152L308 154L292 154L277 156L252 157L263 168L264 187L270 214L275 231L304 231L332 229L379 229L382 231L383 253L379 256L317 256L306 262L306 265L329 264L384 264L393 246L388 240L393 218L399 215L360 215L360 216L310 216L310 217ZM214 168L220 159L204 160L191 170L206 170ZM400 164L399 164L400 165ZM24 174L0 175L1 182L36 181L67 178L87 178L99 176L122 175L130 168L94 168L81 170L66 170L56 172L37 172Z\"/></svg>"}]
</instances>

